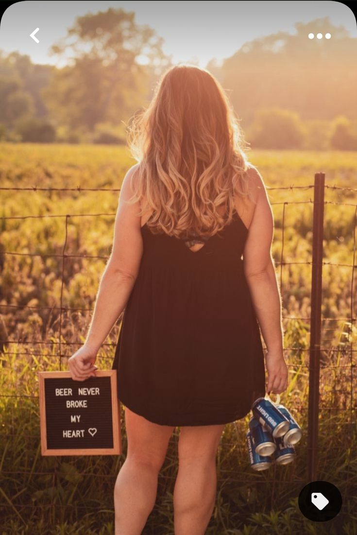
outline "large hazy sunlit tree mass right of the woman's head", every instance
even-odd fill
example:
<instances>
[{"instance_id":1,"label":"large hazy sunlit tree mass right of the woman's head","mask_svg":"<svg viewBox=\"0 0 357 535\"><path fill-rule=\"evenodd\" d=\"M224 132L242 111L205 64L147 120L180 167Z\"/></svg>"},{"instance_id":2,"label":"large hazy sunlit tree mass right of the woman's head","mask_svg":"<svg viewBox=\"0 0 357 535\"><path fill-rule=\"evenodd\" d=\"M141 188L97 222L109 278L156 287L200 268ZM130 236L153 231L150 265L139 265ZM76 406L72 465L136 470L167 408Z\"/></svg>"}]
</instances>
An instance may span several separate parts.
<instances>
[{"instance_id":1,"label":"large hazy sunlit tree mass right of the woman's head","mask_svg":"<svg viewBox=\"0 0 357 535\"><path fill-rule=\"evenodd\" d=\"M238 115L250 125L258 108L282 108L302 120L357 119L357 39L328 17L297 23L296 32L277 32L246 42L224 60L219 76ZM331 39L308 39L309 33Z\"/></svg>"}]
</instances>

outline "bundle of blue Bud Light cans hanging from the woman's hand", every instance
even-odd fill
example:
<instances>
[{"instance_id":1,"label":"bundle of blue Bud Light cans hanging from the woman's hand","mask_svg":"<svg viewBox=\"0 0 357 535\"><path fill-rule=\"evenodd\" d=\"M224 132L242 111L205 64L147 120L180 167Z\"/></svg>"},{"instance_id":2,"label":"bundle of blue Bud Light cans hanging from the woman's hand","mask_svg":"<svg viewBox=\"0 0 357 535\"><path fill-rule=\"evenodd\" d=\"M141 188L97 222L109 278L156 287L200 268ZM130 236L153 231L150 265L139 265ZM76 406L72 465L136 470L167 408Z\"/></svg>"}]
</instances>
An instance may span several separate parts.
<instances>
[{"instance_id":1,"label":"bundle of blue Bud Light cans hanging from the woman's hand","mask_svg":"<svg viewBox=\"0 0 357 535\"><path fill-rule=\"evenodd\" d=\"M292 462L296 457L294 445L302 432L289 410L282 404L259 398L254 401L252 412L246 440L253 470L266 470L273 462Z\"/></svg>"}]
</instances>

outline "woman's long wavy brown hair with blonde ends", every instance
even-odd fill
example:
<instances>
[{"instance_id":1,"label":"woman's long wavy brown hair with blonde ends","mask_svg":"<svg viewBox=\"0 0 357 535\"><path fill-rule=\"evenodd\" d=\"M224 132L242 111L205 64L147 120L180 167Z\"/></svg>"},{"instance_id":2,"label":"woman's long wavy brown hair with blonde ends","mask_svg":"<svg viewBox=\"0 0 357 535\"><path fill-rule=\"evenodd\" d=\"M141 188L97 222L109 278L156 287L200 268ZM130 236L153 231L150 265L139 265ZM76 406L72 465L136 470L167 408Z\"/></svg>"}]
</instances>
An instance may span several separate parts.
<instances>
[{"instance_id":1,"label":"woman's long wavy brown hair with blonde ends","mask_svg":"<svg viewBox=\"0 0 357 535\"><path fill-rule=\"evenodd\" d=\"M140 216L151 213L154 234L212 236L230 223L235 192L254 202L239 120L204 68L169 68L148 108L134 116L128 142L139 163L128 202L139 201ZM217 211L222 205L226 217Z\"/></svg>"}]
</instances>

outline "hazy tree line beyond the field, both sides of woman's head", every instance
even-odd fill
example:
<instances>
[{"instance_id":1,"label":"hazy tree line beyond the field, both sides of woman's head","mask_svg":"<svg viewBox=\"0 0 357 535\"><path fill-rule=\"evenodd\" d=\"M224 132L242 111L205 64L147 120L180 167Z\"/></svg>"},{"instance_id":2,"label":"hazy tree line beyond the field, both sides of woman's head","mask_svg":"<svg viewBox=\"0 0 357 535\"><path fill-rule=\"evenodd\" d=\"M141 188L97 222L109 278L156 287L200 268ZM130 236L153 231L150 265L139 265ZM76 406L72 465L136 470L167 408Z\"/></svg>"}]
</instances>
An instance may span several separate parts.
<instances>
[{"instance_id":1,"label":"hazy tree line beyond the field, both sides of woman's head","mask_svg":"<svg viewBox=\"0 0 357 535\"><path fill-rule=\"evenodd\" d=\"M222 83L256 148L357 149L352 68L357 40L328 18L245 43L207 68ZM308 33L331 34L309 40ZM125 143L126 125L172 65L162 39L135 13L110 8L77 17L52 46L65 67L0 51L0 139Z\"/></svg>"}]
</instances>

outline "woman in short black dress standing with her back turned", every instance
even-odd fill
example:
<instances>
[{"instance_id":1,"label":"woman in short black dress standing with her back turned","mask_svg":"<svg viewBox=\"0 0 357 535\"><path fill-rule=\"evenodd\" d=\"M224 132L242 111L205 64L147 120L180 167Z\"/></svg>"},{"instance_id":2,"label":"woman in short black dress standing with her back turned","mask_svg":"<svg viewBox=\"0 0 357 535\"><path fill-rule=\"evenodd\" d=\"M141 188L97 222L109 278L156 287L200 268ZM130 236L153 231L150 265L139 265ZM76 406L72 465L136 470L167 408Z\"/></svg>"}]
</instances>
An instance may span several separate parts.
<instances>
[{"instance_id":1,"label":"woman in short black dress standing with her back turned","mask_svg":"<svg viewBox=\"0 0 357 535\"><path fill-rule=\"evenodd\" d=\"M128 439L115 534L142 532L181 426L175 535L201 535L224 426L266 390L287 387L273 215L229 101L206 70L170 68L129 133L138 163L123 180L112 254L69 366L75 380L95 375L97 351L125 309L112 366Z\"/></svg>"}]
</instances>

